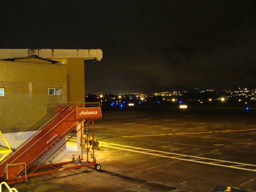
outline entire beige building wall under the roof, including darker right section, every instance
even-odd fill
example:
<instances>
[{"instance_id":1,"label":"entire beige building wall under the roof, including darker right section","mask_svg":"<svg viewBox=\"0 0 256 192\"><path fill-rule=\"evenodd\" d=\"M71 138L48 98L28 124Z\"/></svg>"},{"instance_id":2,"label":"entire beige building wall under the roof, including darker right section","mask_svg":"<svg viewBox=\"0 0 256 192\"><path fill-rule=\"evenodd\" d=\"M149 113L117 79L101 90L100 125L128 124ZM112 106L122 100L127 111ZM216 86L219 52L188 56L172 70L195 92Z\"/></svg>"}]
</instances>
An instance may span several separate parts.
<instances>
[{"instance_id":1,"label":"entire beige building wall under the roof, including darker right section","mask_svg":"<svg viewBox=\"0 0 256 192\"><path fill-rule=\"evenodd\" d=\"M84 59L58 60L65 63L0 61L2 132L36 130L56 114L58 102L84 102ZM49 88L57 88L56 95L49 95Z\"/></svg>"}]
</instances>

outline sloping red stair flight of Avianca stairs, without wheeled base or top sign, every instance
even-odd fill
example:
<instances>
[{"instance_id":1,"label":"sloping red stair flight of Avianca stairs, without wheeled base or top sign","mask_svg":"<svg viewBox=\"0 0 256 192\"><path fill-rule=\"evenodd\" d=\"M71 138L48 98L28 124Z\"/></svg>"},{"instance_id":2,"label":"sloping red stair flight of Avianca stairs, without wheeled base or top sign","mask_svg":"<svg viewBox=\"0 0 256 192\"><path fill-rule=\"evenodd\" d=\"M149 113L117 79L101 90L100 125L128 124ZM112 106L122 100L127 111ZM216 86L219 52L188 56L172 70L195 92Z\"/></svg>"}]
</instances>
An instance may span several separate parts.
<instances>
[{"instance_id":1,"label":"sloping red stair flight of Avianca stairs, without wheeled base or top sign","mask_svg":"<svg viewBox=\"0 0 256 192\"><path fill-rule=\"evenodd\" d=\"M29 168L35 166L42 157L45 159L45 155L51 156L51 150L78 124L84 120L84 124L90 122L90 118L77 118L77 108L83 107L84 104L59 107L56 116L1 162L0 178L9 184L26 180Z\"/></svg>"}]
</instances>

